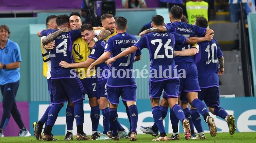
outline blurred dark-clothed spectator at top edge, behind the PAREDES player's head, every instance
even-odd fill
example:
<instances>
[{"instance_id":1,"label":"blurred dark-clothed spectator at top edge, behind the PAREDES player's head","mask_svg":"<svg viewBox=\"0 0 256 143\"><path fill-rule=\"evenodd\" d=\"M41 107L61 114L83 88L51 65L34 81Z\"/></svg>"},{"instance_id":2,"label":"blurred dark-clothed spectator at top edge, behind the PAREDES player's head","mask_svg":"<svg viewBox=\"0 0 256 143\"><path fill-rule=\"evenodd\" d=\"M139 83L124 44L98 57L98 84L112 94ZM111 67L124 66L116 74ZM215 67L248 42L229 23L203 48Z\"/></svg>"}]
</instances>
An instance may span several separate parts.
<instances>
[{"instance_id":1,"label":"blurred dark-clothed spectator at top edge, behind the PAREDES player's head","mask_svg":"<svg viewBox=\"0 0 256 143\"><path fill-rule=\"evenodd\" d=\"M183 9L183 15L187 16L186 7L184 6L183 0L159 0L160 7L166 7L171 9L173 5L178 5Z\"/></svg>"}]
</instances>

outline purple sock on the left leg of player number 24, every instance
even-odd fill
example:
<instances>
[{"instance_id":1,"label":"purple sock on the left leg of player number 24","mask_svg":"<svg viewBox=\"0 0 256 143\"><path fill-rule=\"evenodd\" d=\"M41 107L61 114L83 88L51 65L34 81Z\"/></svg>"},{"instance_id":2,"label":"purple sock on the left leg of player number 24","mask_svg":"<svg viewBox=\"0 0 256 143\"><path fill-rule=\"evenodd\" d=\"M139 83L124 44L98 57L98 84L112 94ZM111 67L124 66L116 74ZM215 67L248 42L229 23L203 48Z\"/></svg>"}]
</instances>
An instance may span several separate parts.
<instances>
[{"instance_id":1,"label":"purple sock on the left leg of player number 24","mask_svg":"<svg viewBox=\"0 0 256 143\"><path fill-rule=\"evenodd\" d=\"M54 125L54 123L58 117L58 113L62 107L63 107L63 104L54 104L52 106L52 108L50 109L50 111L48 113L47 125L49 125L49 126Z\"/></svg>"}]
</instances>

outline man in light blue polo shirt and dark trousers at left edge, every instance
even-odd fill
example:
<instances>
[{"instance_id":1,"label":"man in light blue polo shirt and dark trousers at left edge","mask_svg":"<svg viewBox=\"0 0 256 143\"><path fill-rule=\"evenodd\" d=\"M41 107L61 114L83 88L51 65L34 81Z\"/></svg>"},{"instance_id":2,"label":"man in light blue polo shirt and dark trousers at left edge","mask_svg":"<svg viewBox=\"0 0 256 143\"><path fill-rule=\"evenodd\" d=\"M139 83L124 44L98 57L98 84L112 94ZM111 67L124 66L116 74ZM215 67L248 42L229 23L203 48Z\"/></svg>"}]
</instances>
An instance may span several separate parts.
<instances>
[{"instance_id":1,"label":"man in light blue polo shirt and dark trousers at left edge","mask_svg":"<svg viewBox=\"0 0 256 143\"><path fill-rule=\"evenodd\" d=\"M0 89L3 96L0 137L3 137L3 130L11 114L20 128L19 136L30 136L30 133L24 127L15 101L19 87L21 56L18 44L8 39L10 33L8 26L0 25Z\"/></svg>"}]
</instances>

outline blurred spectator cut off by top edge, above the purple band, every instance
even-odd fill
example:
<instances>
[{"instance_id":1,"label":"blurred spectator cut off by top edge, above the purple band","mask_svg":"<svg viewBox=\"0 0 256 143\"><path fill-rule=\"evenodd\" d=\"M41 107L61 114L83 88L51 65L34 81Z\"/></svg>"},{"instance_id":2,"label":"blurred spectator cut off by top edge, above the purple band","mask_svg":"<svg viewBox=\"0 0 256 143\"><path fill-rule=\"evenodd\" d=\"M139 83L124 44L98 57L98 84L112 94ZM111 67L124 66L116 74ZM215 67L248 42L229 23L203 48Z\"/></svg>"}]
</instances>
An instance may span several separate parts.
<instances>
[{"instance_id":1,"label":"blurred spectator cut off by top edge, above the purple band","mask_svg":"<svg viewBox=\"0 0 256 143\"><path fill-rule=\"evenodd\" d=\"M123 8L147 8L145 0L122 0Z\"/></svg>"}]
</instances>

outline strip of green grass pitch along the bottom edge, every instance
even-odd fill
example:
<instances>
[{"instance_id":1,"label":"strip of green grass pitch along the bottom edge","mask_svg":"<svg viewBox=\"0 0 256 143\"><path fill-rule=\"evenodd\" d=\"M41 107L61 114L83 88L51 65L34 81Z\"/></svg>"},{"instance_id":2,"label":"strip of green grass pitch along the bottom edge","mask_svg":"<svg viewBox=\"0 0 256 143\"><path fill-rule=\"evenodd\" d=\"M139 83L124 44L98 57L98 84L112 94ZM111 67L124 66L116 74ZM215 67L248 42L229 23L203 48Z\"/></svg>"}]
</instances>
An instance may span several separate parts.
<instances>
[{"instance_id":1,"label":"strip of green grass pitch along the bottom edge","mask_svg":"<svg viewBox=\"0 0 256 143\"><path fill-rule=\"evenodd\" d=\"M171 143L171 142L189 142L189 143L255 143L256 142L256 132L249 133L235 133L234 135L229 135L229 133L218 133L215 138L212 138L209 133L206 133L206 140L185 140L183 135L179 134L182 138L181 140L172 140L172 141L158 141L162 143ZM168 134L168 137L170 134ZM48 141L48 142L75 142L75 136L73 141L64 141L65 136L55 136L59 141ZM139 134L137 135L137 143L146 143L153 142L152 139L155 139L148 134ZM38 143L44 142L43 140L38 141L35 137L3 137L0 138L0 143ZM86 142L86 143L128 143L131 142L129 139L121 139L120 141L114 140L101 140L101 141L76 141L76 142Z\"/></svg>"}]
</instances>

